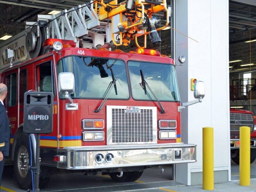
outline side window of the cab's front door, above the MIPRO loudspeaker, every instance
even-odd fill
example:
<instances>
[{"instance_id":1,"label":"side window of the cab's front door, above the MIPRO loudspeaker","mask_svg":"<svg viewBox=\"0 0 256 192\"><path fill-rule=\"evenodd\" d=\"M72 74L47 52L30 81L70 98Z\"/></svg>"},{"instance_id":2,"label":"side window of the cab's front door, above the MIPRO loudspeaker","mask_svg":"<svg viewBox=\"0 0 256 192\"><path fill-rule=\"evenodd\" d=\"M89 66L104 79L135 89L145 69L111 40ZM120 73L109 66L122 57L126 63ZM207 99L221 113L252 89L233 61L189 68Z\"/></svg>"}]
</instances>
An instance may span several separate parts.
<instances>
[{"instance_id":1,"label":"side window of the cab's front door, above the MIPRO loudspeaker","mask_svg":"<svg viewBox=\"0 0 256 192\"><path fill-rule=\"evenodd\" d=\"M37 91L53 92L53 97L55 97L55 84L52 74L52 61L47 61L36 66Z\"/></svg>"}]
</instances>

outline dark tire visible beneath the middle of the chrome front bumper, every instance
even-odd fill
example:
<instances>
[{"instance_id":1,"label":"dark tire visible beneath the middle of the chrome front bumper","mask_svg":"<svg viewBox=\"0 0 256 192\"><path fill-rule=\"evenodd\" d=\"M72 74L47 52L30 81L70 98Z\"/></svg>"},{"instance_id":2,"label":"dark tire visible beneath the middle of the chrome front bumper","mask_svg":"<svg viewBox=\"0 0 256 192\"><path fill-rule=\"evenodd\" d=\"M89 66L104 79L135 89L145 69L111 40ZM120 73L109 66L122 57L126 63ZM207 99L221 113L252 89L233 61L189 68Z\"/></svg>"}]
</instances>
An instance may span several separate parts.
<instances>
[{"instance_id":1,"label":"dark tire visible beneath the middle of the chrome front bumper","mask_svg":"<svg viewBox=\"0 0 256 192\"><path fill-rule=\"evenodd\" d=\"M138 171L124 172L122 177L117 177L117 175L120 175L120 173L115 172L115 173L109 173L109 176L111 177L112 180L116 182L132 182L132 181L138 180L142 175L142 173L143 171L142 172L138 172Z\"/></svg>"}]
</instances>

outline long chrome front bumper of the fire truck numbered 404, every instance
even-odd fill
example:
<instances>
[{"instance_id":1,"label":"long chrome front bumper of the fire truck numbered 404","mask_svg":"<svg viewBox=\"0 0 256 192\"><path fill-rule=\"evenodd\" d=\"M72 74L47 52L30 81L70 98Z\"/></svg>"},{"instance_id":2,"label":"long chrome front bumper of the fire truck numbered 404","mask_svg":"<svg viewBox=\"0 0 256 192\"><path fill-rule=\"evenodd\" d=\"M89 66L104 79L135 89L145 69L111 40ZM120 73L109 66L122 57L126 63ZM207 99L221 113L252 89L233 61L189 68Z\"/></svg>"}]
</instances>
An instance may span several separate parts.
<instances>
[{"instance_id":1,"label":"long chrome front bumper of the fire truck numbered 404","mask_svg":"<svg viewBox=\"0 0 256 192\"><path fill-rule=\"evenodd\" d=\"M69 147L57 152L65 159L63 163L58 162L58 168L76 170L196 162L196 145L183 143ZM114 159L111 163L104 159L98 164L95 156L99 153L104 157L111 153Z\"/></svg>"}]
</instances>

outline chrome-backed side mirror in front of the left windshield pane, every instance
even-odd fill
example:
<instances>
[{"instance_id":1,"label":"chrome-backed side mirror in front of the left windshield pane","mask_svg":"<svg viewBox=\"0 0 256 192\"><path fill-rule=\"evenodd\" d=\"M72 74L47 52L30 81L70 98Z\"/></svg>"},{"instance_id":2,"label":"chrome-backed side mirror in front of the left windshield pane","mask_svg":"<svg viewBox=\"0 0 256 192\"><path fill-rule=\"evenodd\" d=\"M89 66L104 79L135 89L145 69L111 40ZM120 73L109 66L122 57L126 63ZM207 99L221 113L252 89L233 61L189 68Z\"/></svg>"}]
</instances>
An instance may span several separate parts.
<instances>
[{"instance_id":1,"label":"chrome-backed side mirror in front of the left windshield pane","mask_svg":"<svg viewBox=\"0 0 256 192\"><path fill-rule=\"evenodd\" d=\"M75 92L75 77L73 73L60 73L58 76L60 94L73 94Z\"/></svg>"}]
</instances>

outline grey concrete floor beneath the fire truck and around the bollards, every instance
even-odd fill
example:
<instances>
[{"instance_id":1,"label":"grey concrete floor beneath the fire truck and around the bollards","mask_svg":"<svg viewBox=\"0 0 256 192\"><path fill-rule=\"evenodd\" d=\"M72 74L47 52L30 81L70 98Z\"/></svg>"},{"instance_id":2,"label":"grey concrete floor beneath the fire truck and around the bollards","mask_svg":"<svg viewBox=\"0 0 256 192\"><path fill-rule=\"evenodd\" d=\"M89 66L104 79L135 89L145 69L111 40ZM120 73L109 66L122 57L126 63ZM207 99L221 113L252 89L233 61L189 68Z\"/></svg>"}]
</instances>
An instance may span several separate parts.
<instances>
[{"instance_id":1,"label":"grey concrete floor beneath the fire truck and around the bollards","mask_svg":"<svg viewBox=\"0 0 256 192\"><path fill-rule=\"evenodd\" d=\"M76 192L109 192L109 191L170 191L197 192L205 191L202 186L185 186L172 181L172 167L164 166L162 174L158 167L146 169L139 180L128 183L116 183L108 175L84 176L83 173L53 174L48 186L40 191L76 191ZM251 164L251 186L239 186L239 165L231 160L231 180L228 183L215 184L214 191L256 191L256 161ZM12 165L5 166L1 192L25 192L20 190L13 180Z\"/></svg>"}]
</instances>

